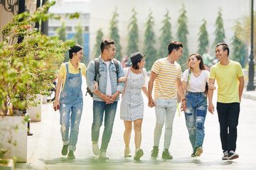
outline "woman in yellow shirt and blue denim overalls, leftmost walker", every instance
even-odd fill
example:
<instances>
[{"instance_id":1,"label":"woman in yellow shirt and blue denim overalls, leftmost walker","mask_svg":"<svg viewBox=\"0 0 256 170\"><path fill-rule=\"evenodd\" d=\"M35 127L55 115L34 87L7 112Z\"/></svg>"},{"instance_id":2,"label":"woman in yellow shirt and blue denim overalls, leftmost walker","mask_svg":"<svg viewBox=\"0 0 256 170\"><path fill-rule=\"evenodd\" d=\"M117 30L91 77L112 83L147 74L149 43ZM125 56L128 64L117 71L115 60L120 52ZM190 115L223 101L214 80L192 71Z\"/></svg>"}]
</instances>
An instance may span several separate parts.
<instances>
[{"instance_id":1,"label":"woman in yellow shirt and blue denim overalls, leftmost walker","mask_svg":"<svg viewBox=\"0 0 256 170\"><path fill-rule=\"evenodd\" d=\"M60 132L63 140L61 153L74 159L75 145L78 142L79 124L82 115L82 75L86 75L85 64L80 63L83 57L82 47L75 45L69 50L70 61L61 64L58 71L53 108L60 109ZM60 87L62 91L60 93ZM60 94L60 101L59 101ZM70 130L70 135L69 135ZM69 152L68 152L69 150Z\"/></svg>"}]
</instances>

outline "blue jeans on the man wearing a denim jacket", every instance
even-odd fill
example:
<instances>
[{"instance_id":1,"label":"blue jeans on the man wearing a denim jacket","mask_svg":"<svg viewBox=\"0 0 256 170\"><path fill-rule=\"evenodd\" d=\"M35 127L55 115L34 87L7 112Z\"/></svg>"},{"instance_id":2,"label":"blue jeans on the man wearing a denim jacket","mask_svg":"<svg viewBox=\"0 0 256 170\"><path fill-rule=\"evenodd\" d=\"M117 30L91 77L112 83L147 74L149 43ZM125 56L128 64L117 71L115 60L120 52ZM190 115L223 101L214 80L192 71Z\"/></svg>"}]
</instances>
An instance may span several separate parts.
<instances>
[{"instance_id":1,"label":"blue jeans on the man wearing a denim jacket","mask_svg":"<svg viewBox=\"0 0 256 170\"><path fill-rule=\"evenodd\" d=\"M104 131L100 151L106 152L112 135L114 116L117 111L117 101L111 104L106 104L105 101L93 101L92 142L98 142L99 140L104 111Z\"/></svg>"}]
</instances>

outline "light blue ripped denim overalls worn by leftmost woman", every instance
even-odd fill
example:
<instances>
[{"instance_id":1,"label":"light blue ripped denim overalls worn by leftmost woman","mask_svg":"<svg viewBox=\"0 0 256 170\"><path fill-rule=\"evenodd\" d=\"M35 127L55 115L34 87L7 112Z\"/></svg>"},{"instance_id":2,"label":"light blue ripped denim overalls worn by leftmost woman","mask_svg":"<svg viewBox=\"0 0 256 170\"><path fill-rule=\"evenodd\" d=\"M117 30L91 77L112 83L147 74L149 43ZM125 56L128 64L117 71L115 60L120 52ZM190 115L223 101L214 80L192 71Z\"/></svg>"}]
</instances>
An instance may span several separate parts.
<instances>
[{"instance_id":1,"label":"light blue ripped denim overalls worn by leftmost woman","mask_svg":"<svg viewBox=\"0 0 256 170\"><path fill-rule=\"evenodd\" d=\"M78 74L69 73L68 63L65 65L67 76L63 91L60 93L60 132L63 145L69 144L69 150L75 151L82 115L82 75L80 69Z\"/></svg>"}]
</instances>

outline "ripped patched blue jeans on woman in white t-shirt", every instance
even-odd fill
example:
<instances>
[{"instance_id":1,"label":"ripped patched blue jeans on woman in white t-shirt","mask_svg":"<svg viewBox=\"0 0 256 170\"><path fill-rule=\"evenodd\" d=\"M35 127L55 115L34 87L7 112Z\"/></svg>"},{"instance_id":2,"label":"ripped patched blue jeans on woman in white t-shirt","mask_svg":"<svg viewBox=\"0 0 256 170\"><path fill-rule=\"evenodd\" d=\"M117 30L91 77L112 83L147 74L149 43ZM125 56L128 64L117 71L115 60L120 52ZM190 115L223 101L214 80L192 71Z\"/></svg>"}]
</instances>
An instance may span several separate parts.
<instances>
[{"instance_id":1,"label":"ripped patched blue jeans on woman in white t-shirt","mask_svg":"<svg viewBox=\"0 0 256 170\"><path fill-rule=\"evenodd\" d=\"M188 128L189 140L193 149L203 146L204 123L207 113L207 97L204 92L186 94L186 127Z\"/></svg>"}]
</instances>

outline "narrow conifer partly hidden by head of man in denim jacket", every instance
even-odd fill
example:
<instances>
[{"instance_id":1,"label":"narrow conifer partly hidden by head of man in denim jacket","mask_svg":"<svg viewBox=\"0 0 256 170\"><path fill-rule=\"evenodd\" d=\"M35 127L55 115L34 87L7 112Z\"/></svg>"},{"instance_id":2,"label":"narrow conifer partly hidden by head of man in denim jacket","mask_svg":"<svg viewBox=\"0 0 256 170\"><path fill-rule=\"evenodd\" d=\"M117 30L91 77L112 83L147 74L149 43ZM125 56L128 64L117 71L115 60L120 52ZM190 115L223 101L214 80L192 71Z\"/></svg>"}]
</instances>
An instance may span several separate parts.
<instances>
[{"instance_id":1,"label":"narrow conifer partly hidden by head of man in denim jacket","mask_svg":"<svg viewBox=\"0 0 256 170\"><path fill-rule=\"evenodd\" d=\"M116 53L116 55L114 55L114 57L121 62L122 61L122 53L121 53L122 47L119 42L120 38L119 38L118 28L117 28L117 25L118 25L117 17L118 16L119 15L117 13L117 8L116 8L114 10L112 20L110 21L110 39L114 40L114 42L115 42L115 47L116 47L117 53Z\"/></svg>"}]
</instances>

